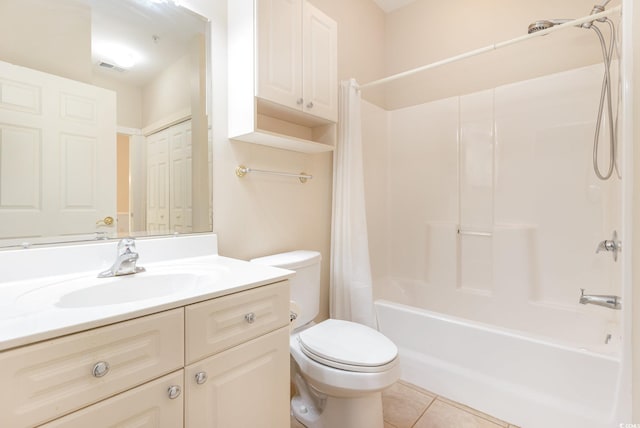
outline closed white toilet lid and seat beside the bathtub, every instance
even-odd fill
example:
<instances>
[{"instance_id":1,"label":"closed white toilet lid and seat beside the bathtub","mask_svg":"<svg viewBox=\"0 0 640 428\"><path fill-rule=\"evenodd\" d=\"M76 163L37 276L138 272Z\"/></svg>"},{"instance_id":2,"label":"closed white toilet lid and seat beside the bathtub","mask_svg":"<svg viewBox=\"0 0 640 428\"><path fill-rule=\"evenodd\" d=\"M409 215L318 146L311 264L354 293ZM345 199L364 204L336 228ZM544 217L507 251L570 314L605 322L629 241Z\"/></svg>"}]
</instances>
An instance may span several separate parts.
<instances>
[{"instance_id":1,"label":"closed white toilet lid and seat beside the bathtub","mask_svg":"<svg viewBox=\"0 0 640 428\"><path fill-rule=\"evenodd\" d=\"M326 320L298 338L309 358L343 370L381 371L398 355L396 345L382 333L350 321Z\"/></svg>"}]
</instances>

